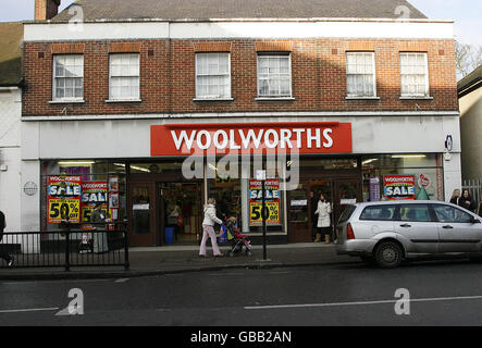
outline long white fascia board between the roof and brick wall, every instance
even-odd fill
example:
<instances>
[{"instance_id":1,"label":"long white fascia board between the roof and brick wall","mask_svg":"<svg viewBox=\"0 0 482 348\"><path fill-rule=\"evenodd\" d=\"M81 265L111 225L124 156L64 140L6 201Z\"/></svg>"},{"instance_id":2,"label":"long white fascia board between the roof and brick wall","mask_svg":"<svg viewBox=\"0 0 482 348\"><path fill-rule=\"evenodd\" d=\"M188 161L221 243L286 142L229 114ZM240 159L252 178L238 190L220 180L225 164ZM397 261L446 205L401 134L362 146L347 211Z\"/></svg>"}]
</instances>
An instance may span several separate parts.
<instances>
[{"instance_id":1,"label":"long white fascia board between the roof and brick wall","mask_svg":"<svg viewBox=\"0 0 482 348\"><path fill-rule=\"evenodd\" d=\"M454 39L446 21L191 21L26 23L24 41L114 39L379 38Z\"/></svg>"}]
</instances>

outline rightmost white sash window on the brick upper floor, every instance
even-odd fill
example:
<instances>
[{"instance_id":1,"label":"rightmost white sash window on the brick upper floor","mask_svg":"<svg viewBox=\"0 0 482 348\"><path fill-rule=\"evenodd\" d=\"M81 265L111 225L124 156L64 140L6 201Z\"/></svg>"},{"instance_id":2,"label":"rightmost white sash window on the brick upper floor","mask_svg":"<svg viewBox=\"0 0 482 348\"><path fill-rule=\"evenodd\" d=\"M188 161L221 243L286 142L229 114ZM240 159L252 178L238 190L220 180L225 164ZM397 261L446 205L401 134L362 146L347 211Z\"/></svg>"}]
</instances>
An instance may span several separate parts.
<instances>
[{"instance_id":1,"label":"rightmost white sash window on the brick upper floor","mask_svg":"<svg viewBox=\"0 0 482 348\"><path fill-rule=\"evenodd\" d=\"M428 97L427 53L400 53L401 97Z\"/></svg>"}]
</instances>

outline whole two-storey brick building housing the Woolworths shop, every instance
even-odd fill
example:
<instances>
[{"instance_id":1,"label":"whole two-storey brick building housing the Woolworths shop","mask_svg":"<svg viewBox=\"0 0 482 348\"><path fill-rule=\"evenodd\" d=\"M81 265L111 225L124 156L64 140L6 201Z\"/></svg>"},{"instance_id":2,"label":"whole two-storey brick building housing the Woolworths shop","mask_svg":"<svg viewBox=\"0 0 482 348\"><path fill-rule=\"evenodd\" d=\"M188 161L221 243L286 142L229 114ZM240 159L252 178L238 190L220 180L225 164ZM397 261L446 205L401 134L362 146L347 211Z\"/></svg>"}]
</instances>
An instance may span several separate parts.
<instances>
[{"instance_id":1,"label":"whole two-storey brick building housing the Woolworths shop","mask_svg":"<svg viewBox=\"0 0 482 348\"><path fill-rule=\"evenodd\" d=\"M195 243L211 196L256 237L261 166L272 241L311 240L311 192L336 220L394 198L388 179L438 200L460 187L450 21L398 0L84 0L51 17L58 4L25 24L23 181L41 187L26 228L57 228L61 173L115 187L133 246Z\"/></svg>"}]
</instances>

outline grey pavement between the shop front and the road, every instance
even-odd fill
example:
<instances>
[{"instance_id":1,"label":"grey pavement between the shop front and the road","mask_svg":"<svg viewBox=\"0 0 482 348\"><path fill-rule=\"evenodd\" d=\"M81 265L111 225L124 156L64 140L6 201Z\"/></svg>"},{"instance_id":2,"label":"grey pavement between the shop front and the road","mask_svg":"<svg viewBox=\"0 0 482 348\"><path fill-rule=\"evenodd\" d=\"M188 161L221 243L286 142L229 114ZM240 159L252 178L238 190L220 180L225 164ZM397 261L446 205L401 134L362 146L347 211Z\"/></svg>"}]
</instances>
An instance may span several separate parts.
<instances>
[{"instance_id":1,"label":"grey pavement between the shop front and the road","mask_svg":"<svg viewBox=\"0 0 482 348\"><path fill-rule=\"evenodd\" d=\"M332 265L360 262L356 258L337 256L333 244L289 244L269 245L267 260L263 259L262 246L254 246L252 256L238 253L227 256L227 247L221 247L223 258L200 258L199 247L155 247L131 248L129 270L123 266L63 268L46 269L1 269L0 281L16 279L72 279L72 278L128 278L136 276L155 276L200 271L222 271L226 269L270 269L307 265Z\"/></svg>"}]
</instances>

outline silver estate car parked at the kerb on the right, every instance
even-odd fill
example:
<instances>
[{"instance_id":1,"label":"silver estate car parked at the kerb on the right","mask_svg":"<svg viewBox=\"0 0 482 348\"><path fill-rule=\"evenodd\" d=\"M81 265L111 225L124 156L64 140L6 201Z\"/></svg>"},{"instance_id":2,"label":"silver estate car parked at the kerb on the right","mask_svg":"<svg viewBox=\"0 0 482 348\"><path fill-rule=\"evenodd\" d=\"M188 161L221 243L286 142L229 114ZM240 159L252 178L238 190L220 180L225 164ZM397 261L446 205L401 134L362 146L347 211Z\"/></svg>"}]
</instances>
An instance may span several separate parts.
<instances>
[{"instance_id":1,"label":"silver estate car parked at the kerb on the right","mask_svg":"<svg viewBox=\"0 0 482 348\"><path fill-rule=\"evenodd\" d=\"M336 252L396 268L404 259L482 257L482 219L440 201L348 206L336 226Z\"/></svg>"}]
</instances>

